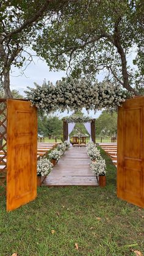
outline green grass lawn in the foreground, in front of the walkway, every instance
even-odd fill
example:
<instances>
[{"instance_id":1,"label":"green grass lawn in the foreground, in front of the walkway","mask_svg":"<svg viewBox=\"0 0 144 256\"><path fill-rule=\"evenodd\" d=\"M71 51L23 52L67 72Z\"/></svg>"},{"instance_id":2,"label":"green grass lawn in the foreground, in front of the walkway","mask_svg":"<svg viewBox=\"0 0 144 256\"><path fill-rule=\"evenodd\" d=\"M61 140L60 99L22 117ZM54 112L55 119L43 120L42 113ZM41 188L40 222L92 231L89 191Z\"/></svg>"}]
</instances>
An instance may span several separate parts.
<instances>
[{"instance_id":1,"label":"green grass lawn in the foreground, in front of the walkway","mask_svg":"<svg viewBox=\"0 0 144 256\"><path fill-rule=\"evenodd\" d=\"M1 199L0 255L144 253L144 210L117 198L116 169L103 155L108 170L105 188L38 188L36 200L10 213Z\"/></svg>"}]
</instances>

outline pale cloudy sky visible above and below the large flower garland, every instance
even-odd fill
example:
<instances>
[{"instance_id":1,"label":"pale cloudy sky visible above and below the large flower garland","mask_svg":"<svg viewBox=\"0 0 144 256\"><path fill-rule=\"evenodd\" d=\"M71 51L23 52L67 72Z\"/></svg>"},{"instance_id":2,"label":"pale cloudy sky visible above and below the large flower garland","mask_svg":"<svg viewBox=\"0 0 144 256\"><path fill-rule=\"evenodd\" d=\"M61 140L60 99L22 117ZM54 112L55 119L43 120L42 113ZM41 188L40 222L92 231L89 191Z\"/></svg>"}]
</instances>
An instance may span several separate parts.
<instances>
[{"instance_id":1,"label":"pale cloudy sky visible above and below the large flower garland","mask_svg":"<svg viewBox=\"0 0 144 256\"><path fill-rule=\"evenodd\" d=\"M34 56L34 62L26 68L24 74L21 75L21 72L18 68L12 67L12 72L10 75L10 89L18 90L22 95L24 95L24 90L26 87L34 87L34 82L38 85L43 84L44 79L46 81L51 81L53 84L56 83L57 80L61 79L62 77L66 77L66 73L64 71L49 71L49 67L46 64L45 60L41 60L39 57ZM103 81L104 74L98 75L98 81ZM90 111L87 114L85 109L82 110L85 115L88 115L93 118L98 118L101 114L101 111L97 111L96 114L94 111ZM61 117L65 117L66 115L71 115L73 112L63 112L60 113L57 111L54 115Z\"/></svg>"}]
</instances>

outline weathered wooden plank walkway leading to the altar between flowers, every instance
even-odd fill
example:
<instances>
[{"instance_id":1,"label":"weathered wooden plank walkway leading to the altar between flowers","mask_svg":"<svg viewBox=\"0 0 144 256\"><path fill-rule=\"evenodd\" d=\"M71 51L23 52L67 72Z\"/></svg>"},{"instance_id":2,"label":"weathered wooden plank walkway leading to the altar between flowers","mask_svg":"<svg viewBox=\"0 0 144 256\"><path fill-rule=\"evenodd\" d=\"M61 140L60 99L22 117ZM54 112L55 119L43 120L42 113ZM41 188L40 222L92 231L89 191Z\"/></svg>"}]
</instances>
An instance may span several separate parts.
<instances>
[{"instance_id":1,"label":"weathered wooden plank walkway leading to the altar between flowers","mask_svg":"<svg viewBox=\"0 0 144 256\"><path fill-rule=\"evenodd\" d=\"M85 147L71 147L43 182L45 186L98 186Z\"/></svg>"}]
</instances>

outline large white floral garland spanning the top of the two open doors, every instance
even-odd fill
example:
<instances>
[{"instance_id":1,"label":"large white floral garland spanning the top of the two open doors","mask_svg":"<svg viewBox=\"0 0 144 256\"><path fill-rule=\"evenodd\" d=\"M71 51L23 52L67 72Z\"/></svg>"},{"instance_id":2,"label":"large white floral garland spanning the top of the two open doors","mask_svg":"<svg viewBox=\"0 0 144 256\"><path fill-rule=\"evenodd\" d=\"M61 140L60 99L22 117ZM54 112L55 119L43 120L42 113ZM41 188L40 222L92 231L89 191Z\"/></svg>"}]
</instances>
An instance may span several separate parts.
<instances>
[{"instance_id":1,"label":"large white floral garland spanning the top of the two open doors","mask_svg":"<svg viewBox=\"0 0 144 256\"><path fill-rule=\"evenodd\" d=\"M126 90L122 90L118 84L111 82L94 82L86 79L62 79L56 86L51 82L42 86L35 84L36 88L28 88L27 100L32 105L47 112L79 111L85 108L87 111L97 111L103 108L115 109L126 100Z\"/></svg>"}]
</instances>

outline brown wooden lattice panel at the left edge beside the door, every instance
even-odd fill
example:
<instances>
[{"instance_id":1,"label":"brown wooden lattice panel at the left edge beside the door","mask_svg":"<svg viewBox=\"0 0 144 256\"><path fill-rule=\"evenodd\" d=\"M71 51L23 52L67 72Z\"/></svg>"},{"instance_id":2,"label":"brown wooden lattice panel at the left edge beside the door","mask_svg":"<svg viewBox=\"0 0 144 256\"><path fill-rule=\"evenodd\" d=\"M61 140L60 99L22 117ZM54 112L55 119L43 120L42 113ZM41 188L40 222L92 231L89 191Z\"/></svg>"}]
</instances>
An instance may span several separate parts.
<instances>
[{"instance_id":1,"label":"brown wooden lattice panel at the left edge beside the door","mask_svg":"<svg viewBox=\"0 0 144 256\"><path fill-rule=\"evenodd\" d=\"M0 101L0 195L5 193L7 174L7 104Z\"/></svg>"}]
</instances>

